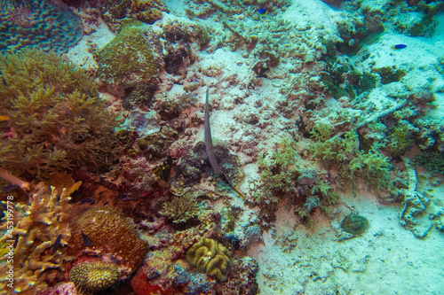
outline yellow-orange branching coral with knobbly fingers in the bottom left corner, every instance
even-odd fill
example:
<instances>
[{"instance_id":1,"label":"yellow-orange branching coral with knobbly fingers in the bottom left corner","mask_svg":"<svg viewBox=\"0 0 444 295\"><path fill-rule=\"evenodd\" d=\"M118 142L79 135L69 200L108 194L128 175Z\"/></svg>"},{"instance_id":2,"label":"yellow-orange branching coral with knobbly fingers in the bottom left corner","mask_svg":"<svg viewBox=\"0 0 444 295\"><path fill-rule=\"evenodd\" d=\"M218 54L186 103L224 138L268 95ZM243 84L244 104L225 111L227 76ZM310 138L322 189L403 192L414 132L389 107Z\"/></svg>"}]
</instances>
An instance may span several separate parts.
<instances>
[{"instance_id":1,"label":"yellow-orange branching coral with knobbly fingers in the bottom left corner","mask_svg":"<svg viewBox=\"0 0 444 295\"><path fill-rule=\"evenodd\" d=\"M52 188L48 193L43 182L37 193L30 198L31 204L15 203L12 215L6 214L5 219L13 217L13 229L8 229L8 222L0 226L4 236L0 239L3 256L0 263L7 265L8 255L4 249L11 241L17 241L14 257L14 291L20 294L36 294L46 286L42 275L48 269L59 269L63 272L65 264L72 260L63 248L54 250L54 245L67 245L71 237L69 218L71 205L69 194L72 190L63 189L61 194ZM8 204L9 205L9 204ZM56 242L57 240L57 242ZM13 245L13 243L12 243ZM6 268L0 268L3 273ZM1 274L2 279L6 276ZM7 281L0 281L1 290L6 288Z\"/></svg>"}]
</instances>

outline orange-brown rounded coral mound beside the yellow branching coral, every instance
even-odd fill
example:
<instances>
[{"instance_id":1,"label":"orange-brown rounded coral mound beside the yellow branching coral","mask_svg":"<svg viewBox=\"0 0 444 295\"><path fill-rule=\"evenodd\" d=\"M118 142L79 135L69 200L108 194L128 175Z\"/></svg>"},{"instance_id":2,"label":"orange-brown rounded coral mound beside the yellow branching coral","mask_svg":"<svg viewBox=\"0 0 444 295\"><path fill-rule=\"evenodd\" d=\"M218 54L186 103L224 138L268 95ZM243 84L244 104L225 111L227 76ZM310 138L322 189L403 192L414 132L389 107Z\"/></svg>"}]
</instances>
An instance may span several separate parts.
<instances>
[{"instance_id":1,"label":"orange-brown rounded coral mound beside the yellow branching coral","mask_svg":"<svg viewBox=\"0 0 444 295\"><path fill-rule=\"evenodd\" d=\"M116 260L124 275L130 275L142 264L148 251L147 242L123 213L113 207L94 207L85 211L75 226L75 243L86 250Z\"/></svg>"}]
</instances>

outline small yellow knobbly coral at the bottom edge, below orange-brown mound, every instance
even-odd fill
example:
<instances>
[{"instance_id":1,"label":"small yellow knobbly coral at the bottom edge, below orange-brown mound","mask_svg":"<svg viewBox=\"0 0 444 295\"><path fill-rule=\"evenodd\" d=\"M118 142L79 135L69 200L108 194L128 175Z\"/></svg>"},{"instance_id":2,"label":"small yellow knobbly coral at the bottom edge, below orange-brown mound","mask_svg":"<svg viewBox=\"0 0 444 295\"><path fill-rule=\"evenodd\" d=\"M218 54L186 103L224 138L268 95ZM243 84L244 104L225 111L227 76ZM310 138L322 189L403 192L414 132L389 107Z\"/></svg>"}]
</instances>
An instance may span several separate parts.
<instances>
[{"instance_id":1,"label":"small yellow knobbly coral at the bottom edge, below orange-brown mound","mask_svg":"<svg viewBox=\"0 0 444 295\"><path fill-rule=\"evenodd\" d=\"M82 262L69 272L69 280L83 295L114 286L120 280L119 268L111 262Z\"/></svg>"}]
</instances>

